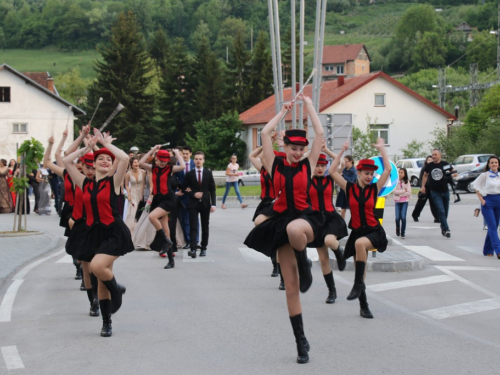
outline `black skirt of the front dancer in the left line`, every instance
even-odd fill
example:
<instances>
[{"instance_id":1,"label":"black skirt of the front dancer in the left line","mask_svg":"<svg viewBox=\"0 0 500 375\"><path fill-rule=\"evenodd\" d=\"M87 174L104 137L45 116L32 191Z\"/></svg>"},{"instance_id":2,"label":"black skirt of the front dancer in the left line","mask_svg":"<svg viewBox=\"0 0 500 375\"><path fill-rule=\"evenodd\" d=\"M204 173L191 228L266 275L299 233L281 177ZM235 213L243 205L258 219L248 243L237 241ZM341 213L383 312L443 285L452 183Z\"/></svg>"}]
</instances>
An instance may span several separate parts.
<instances>
[{"instance_id":1,"label":"black skirt of the front dancer in the left line","mask_svg":"<svg viewBox=\"0 0 500 375\"><path fill-rule=\"evenodd\" d=\"M121 218L109 227L94 225L87 230L77 258L90 262L97 254L122 256L134 251L130 230Z\"/></svg>"}]
</instances>

